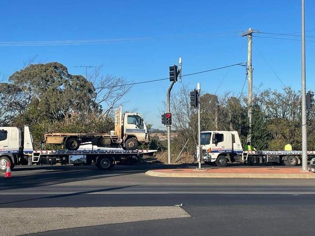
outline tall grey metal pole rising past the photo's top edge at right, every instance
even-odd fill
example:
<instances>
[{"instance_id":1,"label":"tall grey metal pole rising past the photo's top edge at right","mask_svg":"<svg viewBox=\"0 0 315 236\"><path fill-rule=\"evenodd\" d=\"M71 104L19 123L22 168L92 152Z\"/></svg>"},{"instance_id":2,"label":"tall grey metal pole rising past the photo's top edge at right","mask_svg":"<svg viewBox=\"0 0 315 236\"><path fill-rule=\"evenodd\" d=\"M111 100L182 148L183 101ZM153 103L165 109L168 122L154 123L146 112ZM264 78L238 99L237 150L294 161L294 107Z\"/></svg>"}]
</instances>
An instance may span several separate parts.
<instances>
[{"instance_id":1,"label":"tall grey metal pole rising past the photo's top edge at right","mask_svg":"<svg viewBox=\"0 0 315 236\"><path fill-rule=\"evenodd\" d=\"M305 85L305 3L302 0L302 171L307 171L306 85Z\"/></svg>"}]
</instances>

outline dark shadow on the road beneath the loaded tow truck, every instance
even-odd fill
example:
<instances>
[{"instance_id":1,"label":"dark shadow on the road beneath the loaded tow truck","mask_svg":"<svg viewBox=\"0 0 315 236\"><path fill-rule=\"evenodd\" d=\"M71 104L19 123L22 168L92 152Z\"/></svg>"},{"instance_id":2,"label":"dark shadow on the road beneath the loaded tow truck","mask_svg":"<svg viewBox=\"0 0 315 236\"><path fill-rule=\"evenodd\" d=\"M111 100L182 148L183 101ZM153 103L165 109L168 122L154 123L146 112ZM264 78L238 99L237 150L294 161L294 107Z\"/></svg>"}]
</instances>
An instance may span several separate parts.
<instances>
[{"instance_id":1,"label":"dark shadow on the road beneath the loaded tow truck","mask_svg":"<svg viewBox=\"0 0 315 236\"><path fill-rule=\"evenodd\" d=\"M109 171L98 170L95 166L17 166L12 172L12 178L0 177L0 191L49 186L99 178L127 176L145 173L151 169L187 168L194 166L195 165L187 164L164 165L140 163L135 165L116 165Z\"/></svg>"}]
</instances>

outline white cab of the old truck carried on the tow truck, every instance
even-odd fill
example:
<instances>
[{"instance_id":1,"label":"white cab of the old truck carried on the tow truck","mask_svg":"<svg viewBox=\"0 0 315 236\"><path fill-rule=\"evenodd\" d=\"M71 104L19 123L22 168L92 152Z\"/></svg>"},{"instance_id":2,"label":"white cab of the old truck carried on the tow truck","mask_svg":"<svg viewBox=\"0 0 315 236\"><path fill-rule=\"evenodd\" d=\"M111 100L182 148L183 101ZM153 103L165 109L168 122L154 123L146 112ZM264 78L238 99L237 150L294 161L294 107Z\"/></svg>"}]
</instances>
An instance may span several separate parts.
<instances>
[{"instance_id":1,"label":"white cab of the old truck carried on the tow truck","mask_svg":"<svg viewBox=\"0 0 315 236\"><path fill-rule=\"evenodd\" d=\"M140 116L136 114L127 115L127 123L125 125L126 134L135 135L139 142L145 140L144 123Z\"/></svg>"}]
</instances>

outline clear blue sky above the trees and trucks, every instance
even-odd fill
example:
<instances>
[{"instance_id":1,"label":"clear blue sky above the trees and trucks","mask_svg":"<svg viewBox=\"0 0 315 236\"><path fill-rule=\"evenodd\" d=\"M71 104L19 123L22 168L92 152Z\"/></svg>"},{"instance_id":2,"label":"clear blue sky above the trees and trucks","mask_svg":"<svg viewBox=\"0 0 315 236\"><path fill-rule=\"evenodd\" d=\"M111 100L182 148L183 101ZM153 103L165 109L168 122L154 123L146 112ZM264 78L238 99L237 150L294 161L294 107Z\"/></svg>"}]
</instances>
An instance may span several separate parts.
<instances>
[{"instance_id":1,"label":"clear blue sky above the trees and trucks","mask_svg":"<svg viewBox=\"0 0 315 236\"><path fill-rule=\"evenodd\" d=\"M71 74L85 75L83 68L74 66L103 64L104 74L124 76L133 82L168 77L168 67L179 57L183 59L183 74L208 70L247 60L247 39L237 36L237 31L251 27L279 34L299 32L300 8L300 0L3 0L0 42L157 39L0 47L0 73L12 74L35 55L37 61L63 63ZM306 30L315 29L314 12L314 2L306 0ZM181 35L189 37L173 37ZM315 36L315 31L306 35ZM307 40L315 41L315 37ZM262 88L280 90L281 82L257 48L286 86L300 89L299 41L253 38L254 87L263 84ZM314 89L315 42L306 42L306 50L307 89ZM214 93L227 70L184 77L183 84L194 88L200 82L204 92ZM231 68L218 94L239 93L244 79L243 67ZM125 98L125 107L138 108L148 123L162 128L159 108L169 83L166 80L134 86ZM175 84L173 90L180 86Z\"/></svg>"}]
</instances>

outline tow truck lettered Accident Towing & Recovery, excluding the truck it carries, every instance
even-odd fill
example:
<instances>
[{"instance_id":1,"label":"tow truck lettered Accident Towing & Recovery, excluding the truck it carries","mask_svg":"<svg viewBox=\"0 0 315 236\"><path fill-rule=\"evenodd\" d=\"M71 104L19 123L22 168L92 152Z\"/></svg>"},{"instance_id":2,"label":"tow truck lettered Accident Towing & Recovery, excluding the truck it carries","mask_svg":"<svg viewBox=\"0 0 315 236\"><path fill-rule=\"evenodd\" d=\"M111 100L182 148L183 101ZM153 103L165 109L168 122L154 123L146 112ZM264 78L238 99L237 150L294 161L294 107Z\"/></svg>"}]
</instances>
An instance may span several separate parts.
<instances>
[{"instance_id":1,"label":"tow truck lettered Accident Towing & Recovery, excluding the truck it carries","mask_svg":"<svg viewBox=\"0 0 315 236\"><path fill-rule=\"evenodd\" d=\"M124 150L123 148L99 148L91 145L78 150L33 150L32 136L28 126L24 132L16 127L0 127L0 171L5 171L8 162L11 168L19 164L69 164L71 159L85 160L99 169L108 170L115 162L125 159L154 155L157 150ZM78 163L78 162L76 162ZM81 163L81 162L80 162Z\"/></svg>"}]
</instances>

